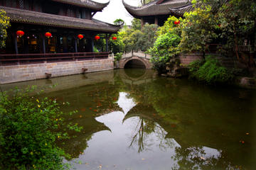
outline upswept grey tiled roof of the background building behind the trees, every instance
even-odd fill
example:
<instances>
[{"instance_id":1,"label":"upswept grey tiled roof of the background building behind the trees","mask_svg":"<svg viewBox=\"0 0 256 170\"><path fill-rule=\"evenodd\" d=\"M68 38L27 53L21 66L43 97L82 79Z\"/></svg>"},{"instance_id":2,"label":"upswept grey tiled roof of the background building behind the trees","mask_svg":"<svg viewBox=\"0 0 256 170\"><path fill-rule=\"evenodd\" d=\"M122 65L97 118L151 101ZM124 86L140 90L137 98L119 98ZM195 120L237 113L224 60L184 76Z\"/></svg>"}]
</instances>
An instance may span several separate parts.
<instances>
[{"instance_id":1,"label":"upswept grey tiled roof of the background building behind the trees","mask_svg":"<svg viewBox=\"0 0 256 170\"><path fill-rule=\"evenodd\" d=\"M135 7L130 6L122 0L124 7L132 16L157 16L169 15L171 11L169 8L180 8L191 4L189 0L157 0L144 6Z\"/></svg>"}]
</instances>

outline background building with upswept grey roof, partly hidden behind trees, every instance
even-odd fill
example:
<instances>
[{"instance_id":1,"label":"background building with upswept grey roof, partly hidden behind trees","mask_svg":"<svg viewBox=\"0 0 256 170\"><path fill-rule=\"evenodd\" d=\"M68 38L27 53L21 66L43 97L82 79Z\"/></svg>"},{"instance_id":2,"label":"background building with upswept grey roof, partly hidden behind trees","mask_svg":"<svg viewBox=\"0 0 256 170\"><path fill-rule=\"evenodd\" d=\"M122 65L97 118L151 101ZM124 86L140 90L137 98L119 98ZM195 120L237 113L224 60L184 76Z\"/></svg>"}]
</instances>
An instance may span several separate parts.
<instances>
[{"instance_id":1,"label":"background building with upswept grey roof, partly hidden behind trees","mask_svg":"<svg viewBox=\"0 0 256 170\"><path fill-rule=\"evenodd\" d=\"M142 26L144 23L163 26L169 16L181 17L193 8L191 0L156 0L139 7L122 2L134 18L142 20Z\"/></svg>"}]
</instances>

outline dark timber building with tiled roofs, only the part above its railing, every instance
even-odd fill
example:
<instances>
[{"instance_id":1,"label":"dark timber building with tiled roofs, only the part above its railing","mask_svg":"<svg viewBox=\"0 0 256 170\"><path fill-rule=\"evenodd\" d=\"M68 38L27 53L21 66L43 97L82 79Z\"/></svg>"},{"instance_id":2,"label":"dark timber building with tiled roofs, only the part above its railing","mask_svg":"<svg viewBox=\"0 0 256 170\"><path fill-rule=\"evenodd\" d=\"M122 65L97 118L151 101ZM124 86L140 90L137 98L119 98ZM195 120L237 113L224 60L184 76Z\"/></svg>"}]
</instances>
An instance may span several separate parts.
<instances>
[{"instance_id":1,"label":"dark timber building with tiled roofs, only the part above its railing","mask_svg":"<svg viewBox=\"0 0 256 170\"><path fill-rule=\"evenodd\" d=\"M107 4L91 0L0 0L0 9L11 21L1 53L92 52L95 35L104 33L107 40L121 28L92 18ZM17 35L18 30L21 35Z\"/></svg>"}]
</instances>

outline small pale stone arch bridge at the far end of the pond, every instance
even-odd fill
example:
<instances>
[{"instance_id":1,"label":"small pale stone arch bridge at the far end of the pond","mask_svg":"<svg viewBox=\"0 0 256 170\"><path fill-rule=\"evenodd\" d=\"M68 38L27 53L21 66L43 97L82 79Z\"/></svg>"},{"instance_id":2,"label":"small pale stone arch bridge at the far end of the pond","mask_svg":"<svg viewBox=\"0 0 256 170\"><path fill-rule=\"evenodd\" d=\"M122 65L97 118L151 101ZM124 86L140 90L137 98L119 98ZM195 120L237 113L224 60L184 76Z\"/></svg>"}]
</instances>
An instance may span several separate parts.
<instances>
[{"instance_id":1,"label":"small pale stone arch bridge at the far end of the pond","mask_svg":"<svg viewBox=\"0 0 256 170\"><path fill-rule=\"evenodd\" d=\"M149 62L151 55L146 55L144 52L129 52L122 55L122 59L119 61L119 68L145 68L152 69L152 64Z\"/></svg>"}]
</instances>

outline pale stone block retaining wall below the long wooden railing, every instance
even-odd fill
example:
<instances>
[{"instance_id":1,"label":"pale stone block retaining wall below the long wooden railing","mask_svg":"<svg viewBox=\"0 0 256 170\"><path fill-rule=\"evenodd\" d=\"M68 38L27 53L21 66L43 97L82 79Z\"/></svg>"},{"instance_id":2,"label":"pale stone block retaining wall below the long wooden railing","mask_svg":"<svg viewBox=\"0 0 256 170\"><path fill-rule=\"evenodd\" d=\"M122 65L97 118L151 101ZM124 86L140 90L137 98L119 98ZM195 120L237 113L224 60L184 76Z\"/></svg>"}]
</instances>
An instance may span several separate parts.
<instances>
[{"instance_id":1,"label":"pale stone block retaining wall below the long wooden railing","mask_svg":"<svg viewBox=\"0 0 256 170\"><path fill-rule=\"evenodd\" d=\"M0 84L45 79L46 73L51 74L51 77L81 74L82 68L87 69L86 72L99 72L114 69L114 63L109 57L102 60L0 66Z\"/></svg>"}]
</instances>

